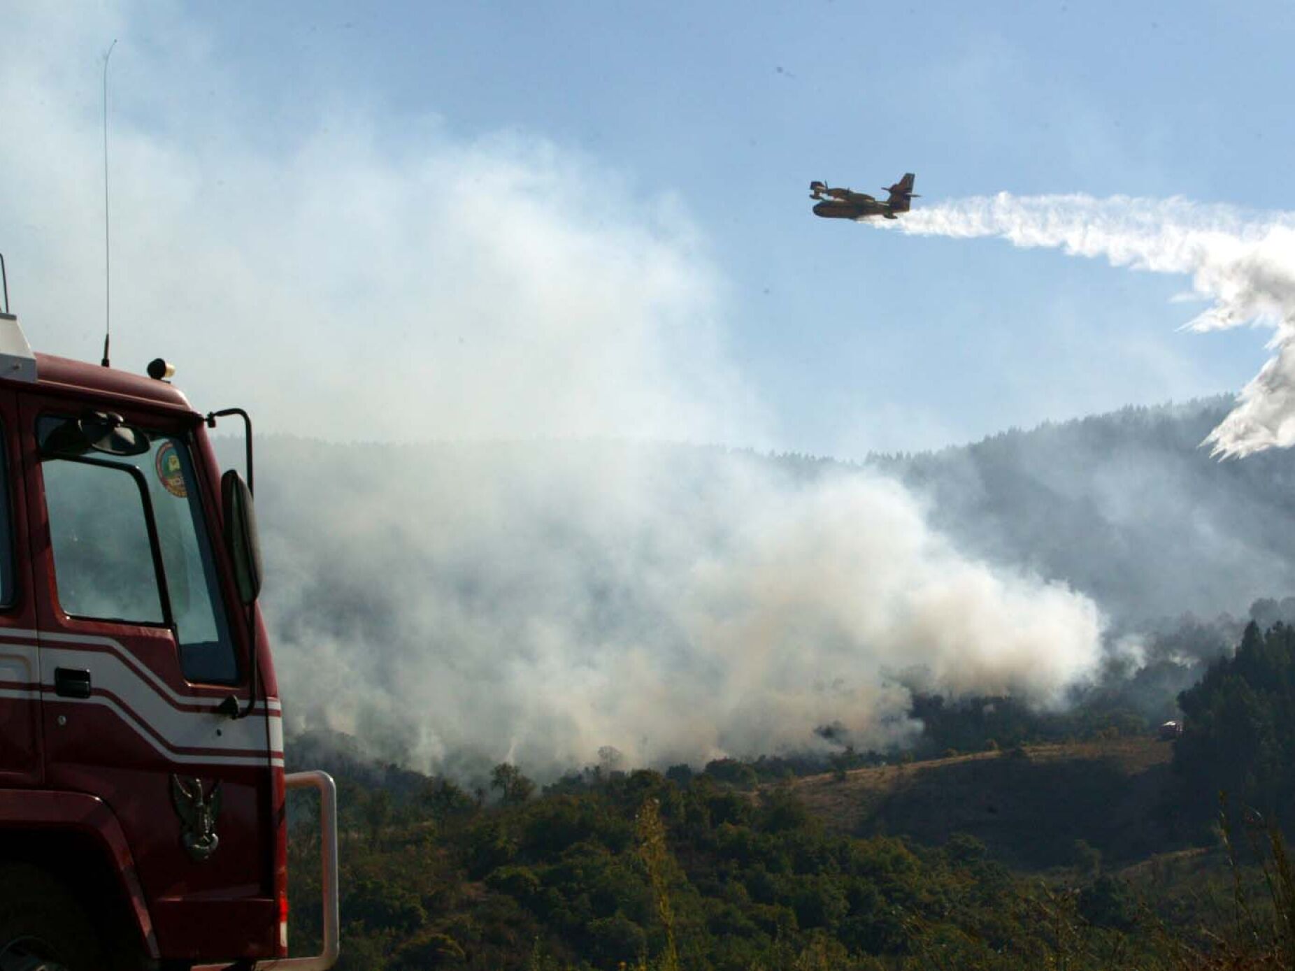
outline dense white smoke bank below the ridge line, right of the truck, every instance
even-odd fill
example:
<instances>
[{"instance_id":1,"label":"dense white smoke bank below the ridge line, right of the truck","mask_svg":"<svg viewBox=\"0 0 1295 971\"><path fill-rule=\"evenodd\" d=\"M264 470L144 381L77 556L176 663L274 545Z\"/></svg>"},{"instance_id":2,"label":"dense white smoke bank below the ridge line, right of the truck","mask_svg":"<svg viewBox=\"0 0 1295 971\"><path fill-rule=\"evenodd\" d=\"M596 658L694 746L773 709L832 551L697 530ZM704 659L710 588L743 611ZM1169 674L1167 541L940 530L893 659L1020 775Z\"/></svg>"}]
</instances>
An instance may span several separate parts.
<instances>
[{"instance_id":1,"label":"dense white smoke bank below the ridge line, right of the truck","mask_svg":"<svg viewBox=\"0 0 1295 971\"><path fill-rule=\"evenodd\" d=\"M297 725L540 776L901 741L909 693L1059 699L1102 620L961 555L894 480L616 443L263 443Z\"/></svg>"}]
</instances>

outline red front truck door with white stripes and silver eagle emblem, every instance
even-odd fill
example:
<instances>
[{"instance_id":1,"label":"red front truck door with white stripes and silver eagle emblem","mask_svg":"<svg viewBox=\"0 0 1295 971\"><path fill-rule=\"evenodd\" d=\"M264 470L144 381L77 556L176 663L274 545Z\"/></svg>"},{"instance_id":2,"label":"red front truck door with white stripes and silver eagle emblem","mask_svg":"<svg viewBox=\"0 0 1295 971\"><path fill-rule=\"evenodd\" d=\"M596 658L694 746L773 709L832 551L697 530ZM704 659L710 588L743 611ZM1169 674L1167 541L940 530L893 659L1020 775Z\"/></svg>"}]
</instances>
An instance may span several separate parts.
<instances>
[{"instance_id":1,"label":"red front truck door with white stripes and silver eagle emblem","mask_svg":"<svg viewBox=\"0 0 1295 971\"><path fill-rule=\"evenodd\" d=\"M231 717L247 653L198 418L39 396L21 408L45 785L117 814L163 954L268 946L268 726L264 706Z\"/></svg>"}]
</instances>

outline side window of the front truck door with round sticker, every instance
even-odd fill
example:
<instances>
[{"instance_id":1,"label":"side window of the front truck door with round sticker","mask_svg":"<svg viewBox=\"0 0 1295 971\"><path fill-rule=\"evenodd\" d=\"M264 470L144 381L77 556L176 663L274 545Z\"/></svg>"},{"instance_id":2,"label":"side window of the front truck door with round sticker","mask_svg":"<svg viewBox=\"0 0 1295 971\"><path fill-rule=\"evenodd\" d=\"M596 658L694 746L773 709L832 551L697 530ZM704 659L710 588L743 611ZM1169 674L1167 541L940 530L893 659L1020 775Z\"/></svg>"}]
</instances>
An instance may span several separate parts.
<instances>
[{"instance_id":1,"label":"side window of the front truck door with round sticker","mask_svg":"<svg viewBox=\"0 0 1295 971\"><path fill-rule=\"evenodd\" d=\"M40 418L43 448L66 421ZM43 456L58 603L75 618L170 624L185 680L233 684L238 664L189 444L149 439L137 456Z\"/></svg>"}]
</instances>

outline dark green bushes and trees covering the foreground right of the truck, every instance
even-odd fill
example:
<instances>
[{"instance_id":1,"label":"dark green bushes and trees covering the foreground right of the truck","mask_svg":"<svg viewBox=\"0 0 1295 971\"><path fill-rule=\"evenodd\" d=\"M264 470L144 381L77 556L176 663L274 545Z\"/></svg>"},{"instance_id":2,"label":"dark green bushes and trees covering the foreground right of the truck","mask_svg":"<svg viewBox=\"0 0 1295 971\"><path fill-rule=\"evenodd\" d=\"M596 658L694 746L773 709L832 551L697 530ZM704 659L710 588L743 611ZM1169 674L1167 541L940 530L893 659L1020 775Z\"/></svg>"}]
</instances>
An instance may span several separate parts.
<instances>
[{"instance_id":1,"label":"dark green bushes and trees covering the foreground right of the truck","mask_svg":"<svg viewBox=\"0 0 1295 971\"><path fill-rule=\"evenodd\" d=\"M1290 967L1295 880L1283 869L1281 838L1234 804L1230 836L1216 827L1194 842L1167 839L1166 820L1147 820L1143 835L1158 835L1129 857L1120 851L1132 845L1128 834L1119 831L1129 820L1109 818L1102 805L1140 779L1136 764L1120 768L1120 751L1128 746L1107 750L1105 781L1094 772L1101 746L1074 756L1023 746L962 761L987 772L945 791L945 803L982 814L997 803L1015 840L1004 829L996 844L1050 839L1061 851L1030 875L965 830L931 842L906 835L909 779L934 773L932 783L916 785L947 783L940 773L949 760L805 786L756 785L755 766L745 766L746 782L725 781L743 774L732 765L675 766L664 776L594 768L543 792L508 764L475 792L370 766L363 779L341 777L339 967ZM903 810L888 817L890 835L835 825L839 804L860 800L856 776L868 773L886 777L882 796ZM1172 813L1172 779L1149 781L1153 788L1125 794L1129 808ZM1019 798L1030 818L1010 805ZM306 946L319 932L311 831L310 822L297 830L290 870L291 933Z\"/></svg>"}]
</instances>

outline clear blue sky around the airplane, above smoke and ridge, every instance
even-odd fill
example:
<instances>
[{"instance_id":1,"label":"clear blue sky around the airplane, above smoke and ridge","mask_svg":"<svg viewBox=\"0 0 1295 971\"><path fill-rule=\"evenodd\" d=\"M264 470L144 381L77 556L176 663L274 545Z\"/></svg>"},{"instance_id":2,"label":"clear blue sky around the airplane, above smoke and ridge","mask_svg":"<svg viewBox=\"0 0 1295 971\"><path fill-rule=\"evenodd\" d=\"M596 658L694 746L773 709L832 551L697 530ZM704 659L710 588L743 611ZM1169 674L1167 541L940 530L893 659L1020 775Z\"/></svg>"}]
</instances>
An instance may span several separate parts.
<instances>
[{"instance_id":1,"label":"clear blue sky around the airplane, above smoke and ridge","mask_svg":"<svg viewBox=\"0 0 1295 971\"><path fill-rule=\"evenodd\" d=\"M1195 312L1171 303L1186 278L829 223L809 214L805 186L866 192L914 171L918 205L1006 190L1282 210L1295 157L1289 4L87 9L120 36L114 122L154 154L210 149L290 173L303 144L344 141L361 120L378 167L400 170L429 139L514 137L579 172L563 202L583 225L676 214L676 249L707 272L699 346L763 416L737 444L843 457L938 447L1234 392L1267 356L1248 330L1178 331ZM47 67L60 56L43 45ZM87 132L100 66L60 67ZM210 131L208 110L224 119ZM482 219L512 232L506 210L483 205ZM21 260L3 229L0 243ZM689 353L686 338L672 347Z\"/></svg>"}]
</instances>

